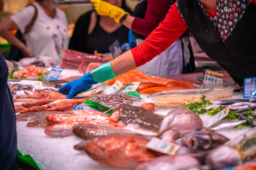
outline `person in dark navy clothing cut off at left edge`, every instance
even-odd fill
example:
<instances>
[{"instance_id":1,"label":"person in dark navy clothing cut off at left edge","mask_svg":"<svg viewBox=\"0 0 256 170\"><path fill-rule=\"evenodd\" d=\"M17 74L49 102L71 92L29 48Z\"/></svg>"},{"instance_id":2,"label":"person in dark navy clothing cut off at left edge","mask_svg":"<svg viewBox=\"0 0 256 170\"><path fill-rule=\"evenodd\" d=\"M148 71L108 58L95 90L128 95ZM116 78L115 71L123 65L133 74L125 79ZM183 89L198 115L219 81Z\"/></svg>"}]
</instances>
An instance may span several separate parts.
<instances>
[{"instance_id":1,"label":"person in dark navy clothing cut off at left edge","mask_svg":"<svg viewBox=\"0 0 256 170\"><path fill-rule=\"evenodd\" d=\"M0 53L0 169L18 169L16 119L7 86L8 68Z\"/></svg>"}]
</instances>

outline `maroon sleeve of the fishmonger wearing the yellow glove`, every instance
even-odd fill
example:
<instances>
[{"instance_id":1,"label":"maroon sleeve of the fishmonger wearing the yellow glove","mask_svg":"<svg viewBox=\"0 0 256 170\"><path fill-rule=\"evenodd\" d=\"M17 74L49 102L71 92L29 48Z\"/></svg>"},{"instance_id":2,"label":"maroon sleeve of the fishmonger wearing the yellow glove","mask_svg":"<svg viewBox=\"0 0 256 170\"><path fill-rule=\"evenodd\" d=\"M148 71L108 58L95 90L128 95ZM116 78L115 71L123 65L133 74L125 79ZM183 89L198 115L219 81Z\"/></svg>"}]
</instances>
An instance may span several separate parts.
<instances>
[{"instance_id":1,"label":"maroon sleeve of the fishmonger wearing the yellow glove","mask_svg":"<svg viewBox=\"0 0 256 170\"><path fill-rule=\"evenodd\" d=\"M170 0L147 0L145 18L135 18L131 30L147 37L163 21L169 5Z\"/></svg>"}]
</instances>

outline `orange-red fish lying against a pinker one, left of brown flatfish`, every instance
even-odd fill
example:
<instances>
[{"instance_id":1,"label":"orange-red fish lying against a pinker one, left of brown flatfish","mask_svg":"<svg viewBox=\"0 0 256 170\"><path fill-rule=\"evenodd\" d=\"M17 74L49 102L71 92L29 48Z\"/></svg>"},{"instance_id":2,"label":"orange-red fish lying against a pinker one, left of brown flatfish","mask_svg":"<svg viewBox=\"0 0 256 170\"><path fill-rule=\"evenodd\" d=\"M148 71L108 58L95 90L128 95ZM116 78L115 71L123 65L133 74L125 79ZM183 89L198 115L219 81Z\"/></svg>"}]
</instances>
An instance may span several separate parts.
<instances>
[{"instance_id":1,"label":"orange-red fish lying against a pinker one, left of brown flatfish","mask_svg":"<svg viewBox=\"0 0 256 170\"><path fill-rule=\"evenodd\" d=\"M46 116L47 121L50 125L61 123L61 122L72 122L72 121L85 121L87 120L84 116L75 114L50 114Z\"/></svg>"}]
</instances>

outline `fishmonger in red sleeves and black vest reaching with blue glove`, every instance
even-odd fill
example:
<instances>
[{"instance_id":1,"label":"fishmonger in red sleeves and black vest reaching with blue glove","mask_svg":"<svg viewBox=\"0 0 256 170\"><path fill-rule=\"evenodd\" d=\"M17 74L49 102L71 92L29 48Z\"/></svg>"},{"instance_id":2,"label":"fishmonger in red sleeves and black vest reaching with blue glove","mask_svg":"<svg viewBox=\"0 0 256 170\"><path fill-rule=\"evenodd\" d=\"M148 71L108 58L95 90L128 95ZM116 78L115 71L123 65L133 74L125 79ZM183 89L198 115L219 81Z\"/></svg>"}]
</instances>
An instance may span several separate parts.
<instances>
[{"instance_id":1,"label":"fishmonger in red sleeves and black vest reaching with blue glove","mask_svg":"<svg viewBox=\"0 0 256 170\"><path fill-rule=\"evenodd\" d=\"M137 47L65 84L67 98L150 61L188 28L200 48L240 86L256 77L256 0L177 0L165 19ZM122 18L122 17L116 17Z\"/></svg>"}]
</instances>

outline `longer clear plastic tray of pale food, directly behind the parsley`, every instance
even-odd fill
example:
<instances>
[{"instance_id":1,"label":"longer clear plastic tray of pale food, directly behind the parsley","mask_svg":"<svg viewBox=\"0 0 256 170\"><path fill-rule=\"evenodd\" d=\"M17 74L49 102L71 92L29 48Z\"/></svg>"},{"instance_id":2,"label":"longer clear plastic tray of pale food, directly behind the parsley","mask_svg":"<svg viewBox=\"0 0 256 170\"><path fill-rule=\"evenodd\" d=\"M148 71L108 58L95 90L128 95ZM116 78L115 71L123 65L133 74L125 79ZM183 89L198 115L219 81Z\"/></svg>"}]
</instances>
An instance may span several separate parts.
<instances>
[{"instance_id":1,"label":"longer clear plastic tray of pale food, directly behind the parsley","mask_svg":"<svg viewBox=\"0 0 256 170\"><path fill-rule=\"evenodd\" d=\"M156 107L184 107L187 104L201 103L201 97L208 95L213 89L169 90L149 95Z\"/></svg>"}]
</instances>

